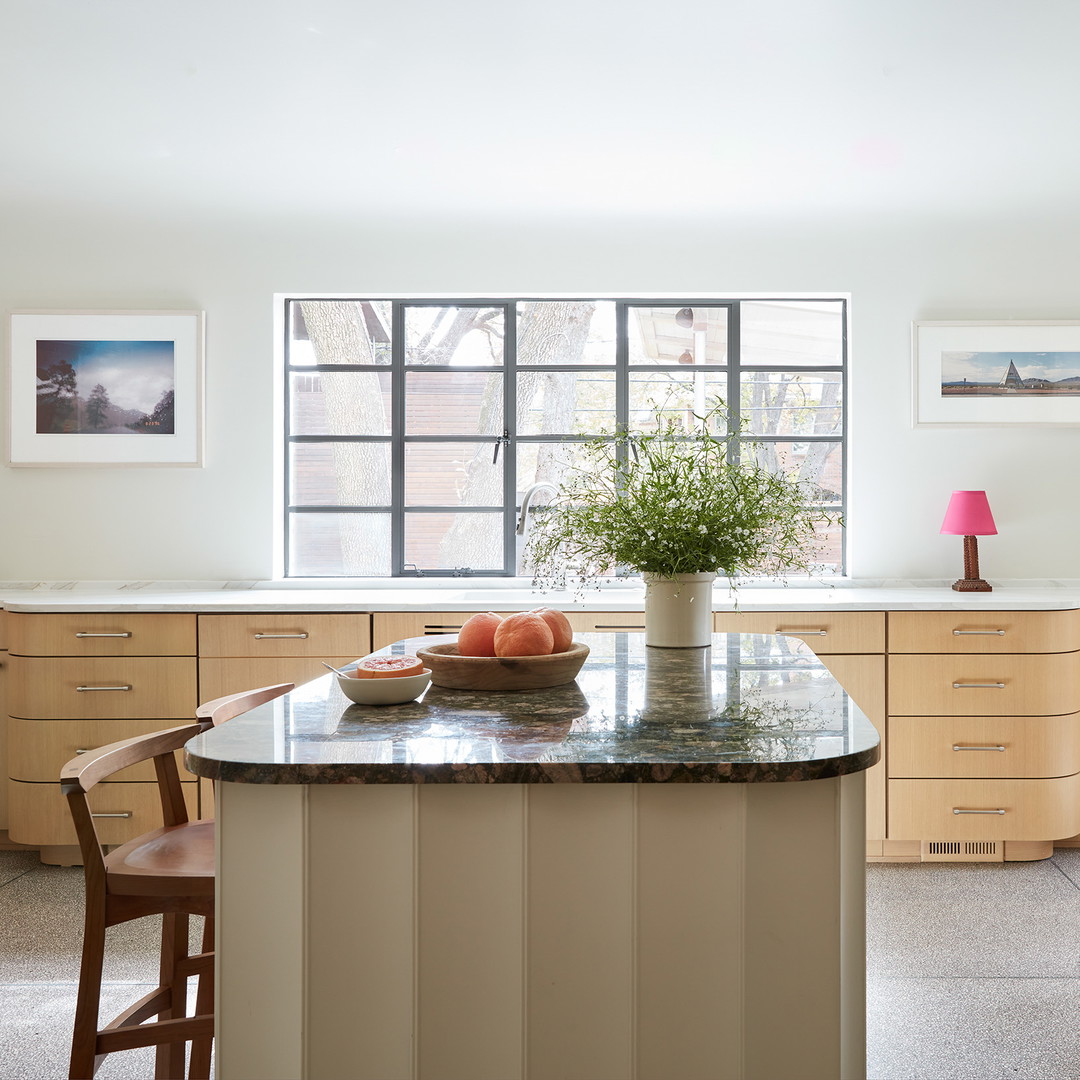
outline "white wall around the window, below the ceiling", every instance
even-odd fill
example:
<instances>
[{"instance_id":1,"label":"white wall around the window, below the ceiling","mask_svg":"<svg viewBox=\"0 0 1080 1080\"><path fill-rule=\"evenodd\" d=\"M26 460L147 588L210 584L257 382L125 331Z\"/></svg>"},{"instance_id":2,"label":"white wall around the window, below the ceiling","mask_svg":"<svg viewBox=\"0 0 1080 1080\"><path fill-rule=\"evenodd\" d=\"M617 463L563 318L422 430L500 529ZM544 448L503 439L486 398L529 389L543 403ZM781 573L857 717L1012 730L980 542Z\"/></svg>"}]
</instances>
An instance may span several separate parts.
<instances>
[{"instance_id":1,"label":"white wall around the window, below the ceiling","mask_svg":"<svg viewBox=\"0 0 1080 1080\"><path fill-rule=\"evenodd\" d=\"M163 208L163 218L166 215ZM206 311L203 469L3 469L6 580L229 579L273 566L278 292L850 292L850 571L946 578L949 491L985 488L984 575L1078 577L1080 429L913 429L913 319L1080 318L1080 222L334 220L234 227L40 211L2 222L11 309ZM16 254L17 253L17 254Z\"/></svg>"}]
</instances>

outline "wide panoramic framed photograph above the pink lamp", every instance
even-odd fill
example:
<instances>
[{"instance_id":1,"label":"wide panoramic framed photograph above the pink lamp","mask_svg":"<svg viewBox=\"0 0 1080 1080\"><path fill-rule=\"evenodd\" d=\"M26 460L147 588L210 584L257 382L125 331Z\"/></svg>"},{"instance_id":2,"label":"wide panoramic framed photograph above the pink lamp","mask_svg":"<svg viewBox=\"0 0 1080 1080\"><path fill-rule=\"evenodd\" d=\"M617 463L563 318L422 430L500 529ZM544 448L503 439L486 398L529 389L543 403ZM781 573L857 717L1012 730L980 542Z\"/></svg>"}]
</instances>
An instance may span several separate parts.
<instances>
[{"instance_id":1,"label":"wide panoramic framed photograph above the pink lamp","mask_svg":"<svg viewBox=\"0 0 1080 1080\"><path fill-rule=\"evenodd\" d=\"M913 423L1080 424L1080 322L912 324Z\"/></svg>"}]
</instances>

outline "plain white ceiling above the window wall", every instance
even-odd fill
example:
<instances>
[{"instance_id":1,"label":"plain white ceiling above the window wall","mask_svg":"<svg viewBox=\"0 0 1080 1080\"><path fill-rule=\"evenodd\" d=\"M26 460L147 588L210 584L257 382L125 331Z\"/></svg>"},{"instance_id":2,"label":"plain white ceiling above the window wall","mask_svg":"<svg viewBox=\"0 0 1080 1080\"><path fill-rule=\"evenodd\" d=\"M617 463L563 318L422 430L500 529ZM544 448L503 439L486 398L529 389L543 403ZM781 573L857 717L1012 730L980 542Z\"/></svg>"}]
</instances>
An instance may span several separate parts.
<instances>
[{"instance_id":1,"label":"plain white ceiling above the window wall","mask_svg":"<svg viewBox=\"0 0 1080 1080\"><path fill-rule=\"evenodd\" d=\"M1076 0L0 0L0 201L1075 214Z\"/></svg>"}]
</instances>

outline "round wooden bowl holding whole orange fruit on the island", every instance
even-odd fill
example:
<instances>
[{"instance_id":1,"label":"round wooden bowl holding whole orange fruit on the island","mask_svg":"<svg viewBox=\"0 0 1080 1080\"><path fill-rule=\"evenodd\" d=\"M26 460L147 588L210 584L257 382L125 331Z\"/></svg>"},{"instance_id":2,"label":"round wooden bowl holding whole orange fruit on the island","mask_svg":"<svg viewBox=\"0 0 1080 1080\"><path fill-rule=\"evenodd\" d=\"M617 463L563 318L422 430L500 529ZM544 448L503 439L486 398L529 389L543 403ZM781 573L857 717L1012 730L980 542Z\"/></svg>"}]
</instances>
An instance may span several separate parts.
<instances>
[{"instance_id":1,"label":"round wooden bowl holding whole orange fruit on the island","mask_svg":"<svg viewBox=\"0 0 1080 1080\"><path fill-rule=\"evenodd\" d=\"M572 683L589 656L562 611L537 608L505 617L481 611L456 644L416 650L434 686L450 690L540 690Z\"/></svg>"}]
</instances>

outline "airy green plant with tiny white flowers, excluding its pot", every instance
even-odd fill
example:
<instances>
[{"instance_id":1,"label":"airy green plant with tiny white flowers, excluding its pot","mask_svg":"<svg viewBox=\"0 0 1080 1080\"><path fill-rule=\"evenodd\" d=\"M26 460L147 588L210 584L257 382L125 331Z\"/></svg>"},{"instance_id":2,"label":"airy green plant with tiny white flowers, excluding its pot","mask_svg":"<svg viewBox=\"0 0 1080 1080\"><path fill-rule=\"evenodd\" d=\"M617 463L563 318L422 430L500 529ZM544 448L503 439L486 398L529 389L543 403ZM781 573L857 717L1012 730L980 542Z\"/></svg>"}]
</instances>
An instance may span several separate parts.
<instances>
[{"instance_id":1,"label":"airy green plant with tiny white flowers, excluding its pot","mask_svg":"<svg viewBox=\"0 0 1080 1080\"><path fill-rule=\"evenodd\" d=\"M756 459L730 461L723 403L683 424L656 409L647 432L605 433L582 444L528 542L538 584L588 581L619 568L665 578L715 572L810 572L818 529L837 515L816 489ZM753 446L742 442L742 447Z\"/></svg>"}]
</instances>

